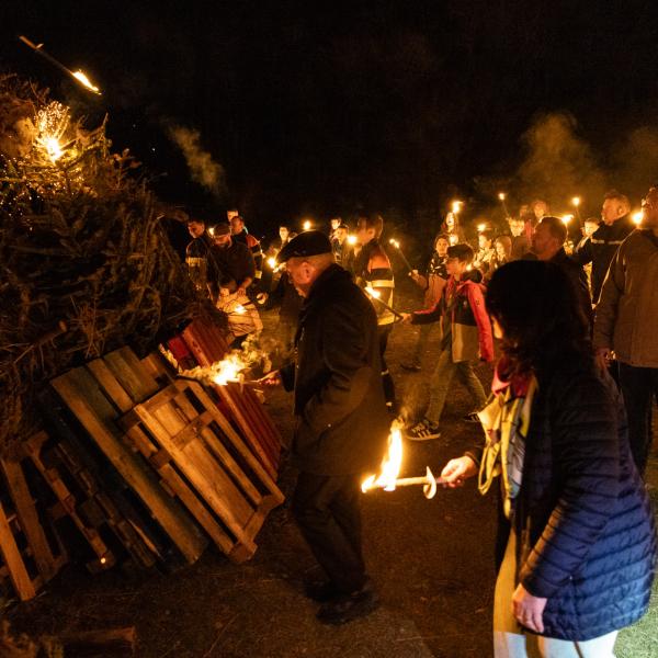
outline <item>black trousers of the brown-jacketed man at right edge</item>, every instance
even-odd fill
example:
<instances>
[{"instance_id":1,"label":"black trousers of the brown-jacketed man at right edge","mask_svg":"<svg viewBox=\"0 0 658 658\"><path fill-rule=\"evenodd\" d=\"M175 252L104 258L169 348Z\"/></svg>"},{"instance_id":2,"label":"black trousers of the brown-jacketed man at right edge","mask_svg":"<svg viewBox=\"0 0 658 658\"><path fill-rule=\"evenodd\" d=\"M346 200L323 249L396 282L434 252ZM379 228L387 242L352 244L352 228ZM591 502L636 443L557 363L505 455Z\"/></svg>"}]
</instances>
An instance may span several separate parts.
<instances>
[{"instance_id":1,"label":"black trousers of the brown-jacketed man at right edge","mask_svg":"<svg viewBox=\"0 0 658 658\"><path fill-rule=\"evenodd\" d=\"M631 452L644 477L651 450L651 404L658 400L658 367L637 367L620 362L620 384L628 418Z\"/></svg>"}]
</instances>

